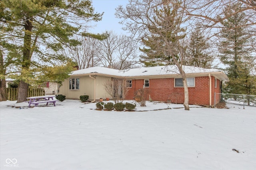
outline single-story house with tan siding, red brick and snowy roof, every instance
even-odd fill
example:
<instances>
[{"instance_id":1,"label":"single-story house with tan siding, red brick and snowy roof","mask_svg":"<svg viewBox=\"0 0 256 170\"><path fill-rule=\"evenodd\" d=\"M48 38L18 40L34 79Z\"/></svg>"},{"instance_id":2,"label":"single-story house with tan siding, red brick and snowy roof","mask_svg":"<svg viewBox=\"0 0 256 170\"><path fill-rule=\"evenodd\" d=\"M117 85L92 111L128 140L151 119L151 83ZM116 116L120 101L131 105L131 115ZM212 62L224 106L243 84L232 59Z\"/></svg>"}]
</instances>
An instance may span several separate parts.
<instances>
[{"instance_id":1,"label":"single-story house with tan siding, red brick and snowy roof","mask_svg":"<svg viewBox=\"0 0 256 170\"><path fill-rule=\"evenodd\" d=\"M220 93L221 82L227 82L228 77L221 70L184 66L188 81L189 104L213 106L214 93ZM148 97L154 101L172 103L184 102L182 78L175 65L142 67L130 70L115 70L105 67L91 67L73 71L70 78L64 80L59 89L67 99L79 99L88 95L95 102L100 98L110 98L104 90L107 80L123 78L129 88L126 100L134 100L135 92L144 88ZM220 99L216 100L216 103Z\"/></svg>"}]
</instances>

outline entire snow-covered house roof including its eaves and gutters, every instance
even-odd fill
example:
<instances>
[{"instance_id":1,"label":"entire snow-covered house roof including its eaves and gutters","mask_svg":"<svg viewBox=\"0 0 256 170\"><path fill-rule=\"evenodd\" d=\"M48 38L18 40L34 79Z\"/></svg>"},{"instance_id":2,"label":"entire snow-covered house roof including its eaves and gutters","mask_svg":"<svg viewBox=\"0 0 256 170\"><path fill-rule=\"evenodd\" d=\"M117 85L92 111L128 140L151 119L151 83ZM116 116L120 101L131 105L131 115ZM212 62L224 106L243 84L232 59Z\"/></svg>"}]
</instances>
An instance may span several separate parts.
<instances>
[{"instance_id":1,"label":"entire snow-covered house roof including its eaves and gutters","mask_svg":"<svg viewBox=\"0 0 256 170\"><path fill-rule=\"evenodd\" d=\"M222 70L200 68L194 66L183 66L183 69L187 77L192 76L208 76L209 74L215 76L222 81L228 81L228 77ZM99 75L99 76L112 76L112 77L125 77L128 79L139 78L171 78L181 77L176 65L169 66L154 66L154 67L141 67L132 68L130 70L116 70L106 67L90 67L82 70L76 70L71 73L70 76L81 75ZM157 77L156 77L157 76Z\"/></svg>"}]
</instances>

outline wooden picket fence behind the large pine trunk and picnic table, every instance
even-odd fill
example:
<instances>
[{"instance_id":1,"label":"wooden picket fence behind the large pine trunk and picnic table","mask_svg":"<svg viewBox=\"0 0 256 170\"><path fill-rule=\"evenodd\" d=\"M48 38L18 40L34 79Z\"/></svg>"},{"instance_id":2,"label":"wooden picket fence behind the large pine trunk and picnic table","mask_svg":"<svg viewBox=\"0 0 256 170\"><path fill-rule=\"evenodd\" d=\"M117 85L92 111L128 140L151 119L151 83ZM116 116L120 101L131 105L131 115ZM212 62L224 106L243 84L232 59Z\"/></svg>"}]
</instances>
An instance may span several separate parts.
<instances>
[{"instance_id":1,"label":"wooden picket fence behind the large pine trunk and picnic table","mask_svg":"<svg viewBox=\"0 0 256 170\"><path fill-rule=\"evenodd\" d=\"M28 97L31 96L44 96L45 91L43 88L28 88ZM7 100L14 101L18 99L18 88L6 88Z\"/></svg>"}]
</instances>

